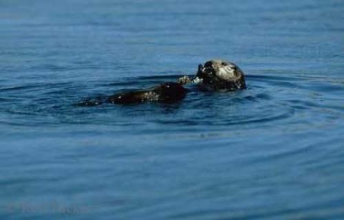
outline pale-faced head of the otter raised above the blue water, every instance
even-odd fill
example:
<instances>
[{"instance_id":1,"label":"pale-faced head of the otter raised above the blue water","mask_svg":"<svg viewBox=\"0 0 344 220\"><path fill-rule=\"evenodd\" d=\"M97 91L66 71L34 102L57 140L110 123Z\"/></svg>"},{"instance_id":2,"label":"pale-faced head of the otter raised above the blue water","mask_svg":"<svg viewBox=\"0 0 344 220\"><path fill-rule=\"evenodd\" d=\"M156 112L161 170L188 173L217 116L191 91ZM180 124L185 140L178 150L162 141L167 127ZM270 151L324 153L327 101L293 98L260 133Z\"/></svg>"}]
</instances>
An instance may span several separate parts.
<instances>
[{"instance_id":1,"label":"pale-faced head of the otter raised above the blue water","mask_svg":"<svg viewBox=\"0 0 344 220\"><path fill-rule=\"evenodd\" d=\"M213 60L198 65L198 71L193 82L210 91L233 91L245 89L244 72L234 63Z\"/></svg>"}]
</instances>

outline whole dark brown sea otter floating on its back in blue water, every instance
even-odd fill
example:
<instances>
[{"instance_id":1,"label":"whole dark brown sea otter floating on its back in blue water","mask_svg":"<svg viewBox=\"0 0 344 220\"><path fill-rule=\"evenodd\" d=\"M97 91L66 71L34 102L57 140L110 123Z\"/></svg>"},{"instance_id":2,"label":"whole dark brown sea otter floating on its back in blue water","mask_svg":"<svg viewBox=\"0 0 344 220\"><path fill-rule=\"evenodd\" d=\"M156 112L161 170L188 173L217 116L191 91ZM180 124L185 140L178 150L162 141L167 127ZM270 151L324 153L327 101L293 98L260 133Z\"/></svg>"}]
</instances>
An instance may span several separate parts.
<instances>
[{"instance_id":1,"label":"whole dark brown sea otter floating on its back in blue water","mask_svg":"<svg viewBox=\"0 0 344 220\"><path fill-rule=\"evenodd\" d=\"M234 63L213 60L198 65L197 74L191 78L183 76L178 79L178 83L162 83L150 89L129 91L120 94L114 94L102 100L89 101L85 100L79 105L94 106L104 102L113 104L134 104L141 102L175 102L182 100L189 89L183 85L193 83L198 88L206 91L234 91L245 89L244 72Z\"/></svg>"}]
</instances>

